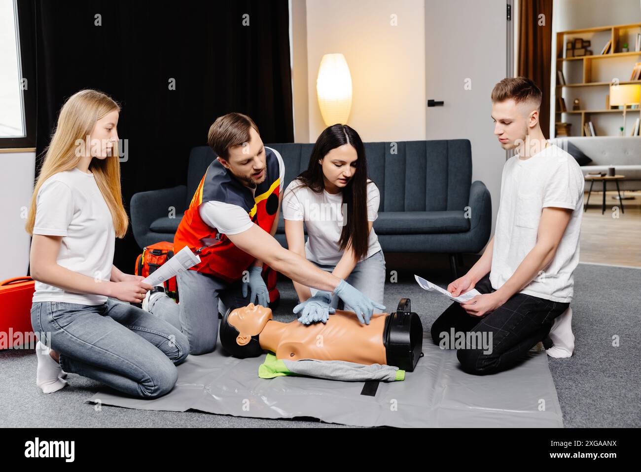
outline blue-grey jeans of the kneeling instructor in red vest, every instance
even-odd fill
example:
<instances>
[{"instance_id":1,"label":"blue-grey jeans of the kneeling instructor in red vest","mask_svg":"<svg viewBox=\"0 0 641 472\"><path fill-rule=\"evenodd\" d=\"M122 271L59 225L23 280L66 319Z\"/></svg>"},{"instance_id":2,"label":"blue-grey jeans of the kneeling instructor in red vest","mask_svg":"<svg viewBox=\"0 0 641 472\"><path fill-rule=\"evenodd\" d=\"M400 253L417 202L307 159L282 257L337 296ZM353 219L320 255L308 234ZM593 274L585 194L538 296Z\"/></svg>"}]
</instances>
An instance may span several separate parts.
<instances>
[{"instance_id":1,"label":"blue-grey jeans of the kneeling instructor in red vest","mask_svg":"<svg viewBox=\"0 0 641 472\"><path fill-rule=\"evenodd\" d=\"M194 355L215 349L219 311L224 315L228 308L249 304L249 290L246 297L242 296L242 280L228 283L196 270L178 274L178 291L180 303L161 293L147 310L184 333Z\"/></svg>"}]
</instances>

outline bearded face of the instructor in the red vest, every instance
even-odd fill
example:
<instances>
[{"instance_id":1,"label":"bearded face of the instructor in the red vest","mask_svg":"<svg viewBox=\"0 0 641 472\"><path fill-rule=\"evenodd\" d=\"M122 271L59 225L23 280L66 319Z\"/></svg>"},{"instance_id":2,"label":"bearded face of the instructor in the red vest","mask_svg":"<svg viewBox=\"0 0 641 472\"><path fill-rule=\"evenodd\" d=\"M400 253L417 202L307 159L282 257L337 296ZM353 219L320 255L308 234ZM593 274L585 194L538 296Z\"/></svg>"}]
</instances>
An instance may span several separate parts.
<instances>
[{"instance_id":1,"label":"bearded face of the instructor in the red vest","mask_svg":"<svg viewBox=\"0 0 641 472\"><path fill-rule=\"evenodd\" d=\"M249 143L229 148L227 160L218 158L224 168L247 187L256 187L267 179L265 146L260 135L249 128Z\"/></svg>"}]
</instances>

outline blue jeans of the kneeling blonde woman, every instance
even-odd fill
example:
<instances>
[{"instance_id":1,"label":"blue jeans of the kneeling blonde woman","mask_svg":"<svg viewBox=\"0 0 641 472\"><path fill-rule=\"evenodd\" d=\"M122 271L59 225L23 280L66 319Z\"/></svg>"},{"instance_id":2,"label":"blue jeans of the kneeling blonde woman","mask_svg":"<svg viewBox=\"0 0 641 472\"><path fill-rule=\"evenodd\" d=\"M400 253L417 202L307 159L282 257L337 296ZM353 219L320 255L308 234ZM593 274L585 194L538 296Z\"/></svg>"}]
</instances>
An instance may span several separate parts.
<instances>
[{"instance_id":1,"label":"blue jeans of the kneeling blonde woman","mask_svg":"<svg viewBox=\"0 0 641 472\"><path fill-rule=\"evenodd\" d=\"M155 398L178 380L189 354L187 337L171 324L128 303L35 302L31 326L40 342L60 353L60 367L126 394Z\"/></svg>"}]
</instances>

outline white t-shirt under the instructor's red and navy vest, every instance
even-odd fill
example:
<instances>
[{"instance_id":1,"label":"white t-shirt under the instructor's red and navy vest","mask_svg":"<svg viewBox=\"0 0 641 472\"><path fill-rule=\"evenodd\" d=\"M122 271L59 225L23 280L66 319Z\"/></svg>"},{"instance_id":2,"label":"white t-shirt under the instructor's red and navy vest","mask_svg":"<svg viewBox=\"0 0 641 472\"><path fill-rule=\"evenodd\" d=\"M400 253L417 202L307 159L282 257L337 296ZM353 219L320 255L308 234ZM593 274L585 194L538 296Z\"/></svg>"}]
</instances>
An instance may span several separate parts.
<instances>
[{"instance_id":1,"label":"white t-shirt under the instructor's red and navy vest","mask_svg":"<svg viewBox=\"0 0 641 472\"><path fill-rule=\"evenodd\" d=\"M272 150L278 158L279 178L282 191L283 182L285 181L285 163L283 162L283 158L277 150L267 147L265 147L265 149ZM255 188L251 188L251 193L255 191ZM200 217L203 218L203 222L217 229L218 232L227 235L247 231L254 224L251 218L249 218L249 213L242 209L242 207L224 202L214 202L211 200L204 202L204 204L200 205L198 213ZM203 241L204 245L212 245L214 243L215 241Z\"/></svg>"}]
</instances>

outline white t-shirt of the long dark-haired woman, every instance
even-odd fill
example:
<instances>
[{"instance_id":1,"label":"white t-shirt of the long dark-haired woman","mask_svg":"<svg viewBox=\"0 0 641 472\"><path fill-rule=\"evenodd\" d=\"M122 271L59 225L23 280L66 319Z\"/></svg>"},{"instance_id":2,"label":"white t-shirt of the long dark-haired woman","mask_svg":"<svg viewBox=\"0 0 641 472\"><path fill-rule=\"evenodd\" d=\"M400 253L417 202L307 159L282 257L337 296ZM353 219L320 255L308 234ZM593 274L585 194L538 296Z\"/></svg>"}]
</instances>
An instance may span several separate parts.
<instances>
[{"instance_id":1,"label":"white t-shirt of the long dark-haired woman","mask_svg":"<svg viewBox=\"0 0 641 472\"><path fill-rule=\"evenodd\" d=\"M371 180L367 180L367 220L378 218L381 194ZM343 256L338 246L343 230L343 194L323 190L315 193L303 186L299 180L292 180L283 195L283 218L304 221L307 228L305 253L307 259L321 265L337 265ZM369 232L369 247L364 259L381 250L374 228Z\"/></svg>"}]
</instances>

